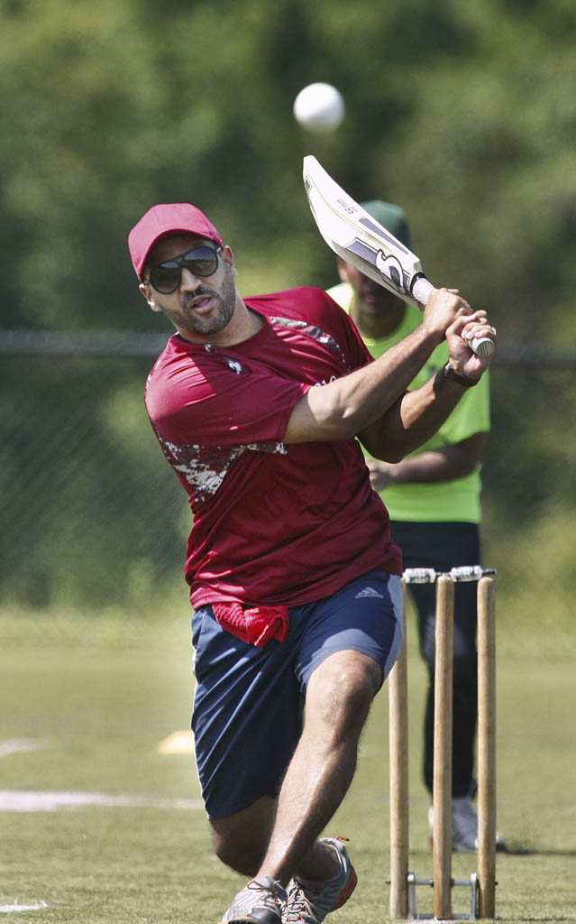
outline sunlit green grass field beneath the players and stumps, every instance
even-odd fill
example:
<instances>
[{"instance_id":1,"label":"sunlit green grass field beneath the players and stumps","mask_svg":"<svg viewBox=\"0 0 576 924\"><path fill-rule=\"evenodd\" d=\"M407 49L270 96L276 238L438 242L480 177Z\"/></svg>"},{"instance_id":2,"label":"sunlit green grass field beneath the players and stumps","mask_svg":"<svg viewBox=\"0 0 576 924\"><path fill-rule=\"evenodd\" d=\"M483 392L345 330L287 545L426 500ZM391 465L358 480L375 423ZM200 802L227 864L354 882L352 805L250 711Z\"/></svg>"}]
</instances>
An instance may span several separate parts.
<instances>
[{"instance_id":1,"label":"sunlit green grass field beneath the players and stumps","mask_svg":"<svg viewBox=\"0 0 576 924\"><path fill-rule=\"evenodd\" d=\"M193 757L157 751L189 721L188 619L186 607L163 622L114 614L0 618L0 789L8 791L0 806L0 906L46 903L6 920L214 924L242 884L212 856ZM525 650L516 632L498 633L498 828L511 851L498 855L497 915L576 921L573 656L562 648L550 655L549 626L544 657L534 628ZM409 650L411 869L429 876L420 781L425 675L414 642ZM350 838L359 876L334 924L388 920L387 710L384 691L353 787L330 823L330 833ZM35 794L54 792L126 798L39 809ZM28 810L16 810L25 797L33 800ZM457 877L474 868L473 855L454 857ZM466 890L455 890L454 911L466 911L468 901ZM418 903L429 911L431 890L420 887Z\"/></svg>"}]
</instances>

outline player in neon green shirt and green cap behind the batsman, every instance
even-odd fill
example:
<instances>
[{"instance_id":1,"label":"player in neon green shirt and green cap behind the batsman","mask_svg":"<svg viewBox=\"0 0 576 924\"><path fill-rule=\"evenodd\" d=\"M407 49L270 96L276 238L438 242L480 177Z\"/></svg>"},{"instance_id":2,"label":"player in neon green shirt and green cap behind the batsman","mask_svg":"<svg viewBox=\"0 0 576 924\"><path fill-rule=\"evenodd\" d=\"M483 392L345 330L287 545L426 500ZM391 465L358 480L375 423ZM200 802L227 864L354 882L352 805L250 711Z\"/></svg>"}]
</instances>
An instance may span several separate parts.
<instances>
[{"instance_id":1,"label":"player in neon green shirt and green cap behind the batsman","mask_svg":"<svg viewBox=\"0 0 576 924\"><path fill-rule=\"evenodd\" d=\"M370 201L363 207L412 249L403 210L390 202ZM341 284L329 294L346 310L373 357L381 356L421 322L421 312L388 289L378 286L351 263L338 258ZM417 388L448 360L446 342L439 344L414 377ZM372 485L389 514L392 538L402 549L404 567L450 571L453 565L475 565L480 557L480 460L490 426L488 373L462 400L430 440L400 462L366 457ZM424 723L424 779L432 794L434 737L434 585L411 584L418 614L420 650L428 669ZM476 732L476 589L455 585L454 695L452 746L452 846L476 849L477 818L474 741ZM432 824L431 808L429 813ZM498 845L503 846L501 835Z\"/></svg>"}]
</instances>

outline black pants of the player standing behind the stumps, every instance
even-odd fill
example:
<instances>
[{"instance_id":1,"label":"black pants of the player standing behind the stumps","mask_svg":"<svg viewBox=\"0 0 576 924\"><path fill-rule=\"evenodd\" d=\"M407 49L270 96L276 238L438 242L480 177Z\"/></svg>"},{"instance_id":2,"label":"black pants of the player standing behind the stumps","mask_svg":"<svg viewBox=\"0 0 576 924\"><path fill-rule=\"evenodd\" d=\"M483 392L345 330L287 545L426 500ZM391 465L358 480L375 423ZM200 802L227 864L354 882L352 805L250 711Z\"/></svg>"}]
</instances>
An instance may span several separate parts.
<instances>
[{"instance_id":1,"label":"black pants of the player standing behind the stumps","mask_svg":"<svg viewBox=\"0 0 576 924\"><path fill-rule=\"evenodd\" d=\"M402 549L404 568L450 571L454 565L479 565L479 529L474 523L390 523L392 539ZM434 656L436 587L410 584L418 613L420 651L428 668L424 724L424 779L432 792L434 755ZM474 785L477 723L475 581L454 585L454 662L452 796L466 796Z\"/></svg>"}]
</instances>

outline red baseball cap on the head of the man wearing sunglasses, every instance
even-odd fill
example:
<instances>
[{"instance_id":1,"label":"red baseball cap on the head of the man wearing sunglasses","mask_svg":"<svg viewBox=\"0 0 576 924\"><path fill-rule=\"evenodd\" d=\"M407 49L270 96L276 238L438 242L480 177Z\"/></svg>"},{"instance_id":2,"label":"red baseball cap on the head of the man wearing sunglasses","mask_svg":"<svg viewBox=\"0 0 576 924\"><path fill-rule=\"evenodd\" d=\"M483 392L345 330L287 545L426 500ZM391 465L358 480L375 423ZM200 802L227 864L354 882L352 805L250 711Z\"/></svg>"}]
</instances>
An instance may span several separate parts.
<instances>
[{"instance_id":1,"label":"red baseball cap on the head of the man wearing sunglasses","mask_svg":"<svg viewBox=\"0 0 576 924\"><path fill-rule=\"evenodd\" d=\"M190 205L189 202L152 205L128 235L128 249L138 279L142 279L144 263L156 241L161 237L177 234L179 231L196 234L199 237L208 237L219 247L224 246L214 225L209 222L203 212L197 209L196 205Z\"/></svg>"}]
</instances>

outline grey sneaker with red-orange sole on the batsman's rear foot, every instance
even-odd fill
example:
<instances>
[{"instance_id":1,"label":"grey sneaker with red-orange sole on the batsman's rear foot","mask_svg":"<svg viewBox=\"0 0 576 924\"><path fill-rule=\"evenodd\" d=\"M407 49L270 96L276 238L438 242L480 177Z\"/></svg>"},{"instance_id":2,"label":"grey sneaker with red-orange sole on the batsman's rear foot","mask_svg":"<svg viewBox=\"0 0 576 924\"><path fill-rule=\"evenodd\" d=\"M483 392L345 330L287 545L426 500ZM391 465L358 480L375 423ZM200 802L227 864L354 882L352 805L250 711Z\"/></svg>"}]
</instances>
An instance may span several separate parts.
<instances>
[{"instance_id":1,"label":"grey sneaker with red-orange sole on the batsman's rear foot","mask_svg":"<svg viewBox=\"0 0 576 924\"><path fill-rule=\"evenodd\" d=\"M335 837L321 837L320 840L335 848L340 871L324 881L294 876L288 883L282 924L320 924L330 911L340 908L354 892L358 878L342 841Z\"/></svg>"}]
</instances>

